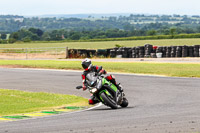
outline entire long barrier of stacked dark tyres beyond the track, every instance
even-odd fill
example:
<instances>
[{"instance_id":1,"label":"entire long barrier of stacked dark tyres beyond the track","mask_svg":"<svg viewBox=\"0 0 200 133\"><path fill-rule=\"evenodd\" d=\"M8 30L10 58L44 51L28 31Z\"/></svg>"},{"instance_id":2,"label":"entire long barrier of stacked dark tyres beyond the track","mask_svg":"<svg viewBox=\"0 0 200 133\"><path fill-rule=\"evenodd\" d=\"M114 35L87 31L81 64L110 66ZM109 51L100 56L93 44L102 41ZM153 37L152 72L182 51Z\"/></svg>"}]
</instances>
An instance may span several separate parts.
<instances>
[{"instance_id":1,"label":"entire long barrier of stacked dark tyres beyond the track","mask_svg":"<svg viewBox=\"0 0 200 133\"><path fill-rule=\"evenodd\" d=\"M159 54L157 54L159 53ZM111 57L111 58L180 58L180 57L200 57L200 45L194 46L153 46L145 44L137 47L120 47L113 49L69 49L69 58L91 58L91 57Z\"/></svg>"}]
</instances>

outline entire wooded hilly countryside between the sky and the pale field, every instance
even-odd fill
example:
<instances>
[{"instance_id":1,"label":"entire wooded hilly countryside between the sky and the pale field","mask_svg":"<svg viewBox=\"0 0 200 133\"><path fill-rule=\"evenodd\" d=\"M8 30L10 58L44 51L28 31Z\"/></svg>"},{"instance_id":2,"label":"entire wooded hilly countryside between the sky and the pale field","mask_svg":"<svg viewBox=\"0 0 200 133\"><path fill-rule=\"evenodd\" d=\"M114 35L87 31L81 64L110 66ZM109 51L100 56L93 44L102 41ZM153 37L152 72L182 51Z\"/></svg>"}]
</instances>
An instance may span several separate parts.
<instances>
[{"instance_id":1,"label":"entire wooded hilly countryside between the sky and the pale field","mask_svg":"<svg viewBox=\"0 0 200 133\"><path fill-rule=\"evenodd\" d=\"M0 15L0 43L16 41L60 40L110 40L140 36L166 35L176 38L179 34L200 33L200 16L187 15L133 15L93 18L25 18ZM179 36L180 37L180 36ZM181 37L194 37L181 36ZM197 37L197 36L195 36ZM115 39L113 39L115 40Z\"/></svg>"}]
</instances>

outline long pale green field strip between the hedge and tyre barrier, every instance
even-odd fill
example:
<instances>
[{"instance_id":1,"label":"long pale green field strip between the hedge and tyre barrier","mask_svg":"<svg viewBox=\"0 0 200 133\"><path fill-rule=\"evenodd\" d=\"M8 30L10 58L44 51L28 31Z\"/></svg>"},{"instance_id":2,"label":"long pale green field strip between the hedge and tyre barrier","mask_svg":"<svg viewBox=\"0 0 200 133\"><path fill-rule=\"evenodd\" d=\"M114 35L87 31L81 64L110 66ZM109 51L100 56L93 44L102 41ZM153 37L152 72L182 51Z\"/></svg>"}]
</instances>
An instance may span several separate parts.
<instances>
[{"instance_id":1,"label":"long pale green field strip between the hedge and tyre barrier","mask_svg":"<svg viewBox=\"0 0 200 133\"><path fill-rule=\"evenodd\" d=\"M115 45L125 47L143 46L152 44L157 46L200 45L200 38L195 39L161 39L161 40L133 40L133 41L104 41L104 42L54 42L54 43L16 43L0 44L0 48L39 48L39 47L69 47L74 49L106 49Z\"/></svg>"}]
</instances>

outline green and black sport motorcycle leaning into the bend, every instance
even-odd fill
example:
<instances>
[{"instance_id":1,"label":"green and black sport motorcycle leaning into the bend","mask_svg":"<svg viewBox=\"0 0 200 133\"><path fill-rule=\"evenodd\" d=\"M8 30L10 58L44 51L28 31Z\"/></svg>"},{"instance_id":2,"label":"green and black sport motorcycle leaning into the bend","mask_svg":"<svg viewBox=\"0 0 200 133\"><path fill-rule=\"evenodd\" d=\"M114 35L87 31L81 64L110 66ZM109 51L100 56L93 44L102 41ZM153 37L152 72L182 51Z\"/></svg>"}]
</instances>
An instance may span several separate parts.
<instances>
[{"instance_id":1,"label":"green and black sport motorcycle leaning into the bend","mask_svg":"<svg viewBox=\"0 0 200 133\"><path fill-rule=\"evenodd\" d=\"M91 72L86 76L87 88L91 94L104 105L117 109L119 106L127 107L128 100L124 93L120 92L117 87L106 80L104 76L99 74L102 67L99 67L97 72ZM76 89L81 89L82 86L77 86Z\"/></svg>"}]
</instances>

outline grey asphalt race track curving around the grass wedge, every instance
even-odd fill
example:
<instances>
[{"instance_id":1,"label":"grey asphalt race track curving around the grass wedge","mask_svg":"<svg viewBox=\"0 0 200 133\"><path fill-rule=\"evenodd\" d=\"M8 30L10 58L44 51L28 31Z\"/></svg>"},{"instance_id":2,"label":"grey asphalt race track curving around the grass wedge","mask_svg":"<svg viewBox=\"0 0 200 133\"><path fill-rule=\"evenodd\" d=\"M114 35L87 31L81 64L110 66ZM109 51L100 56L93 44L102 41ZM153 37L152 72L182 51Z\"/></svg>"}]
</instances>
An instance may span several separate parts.
<instances>
[{"instance_id":1,"label":"grey asphalt race track curving around the grass wedge","mask_svg":"<svg viewBox=\"0 0 200 133\"><path fill-rule=\"evenodd\" d=\"M0 88L75 94L81 72L0 68ZM200 79L115 74L129 106L1 122L0 133L200 133Z\"/></svg>"}]
</instances>

